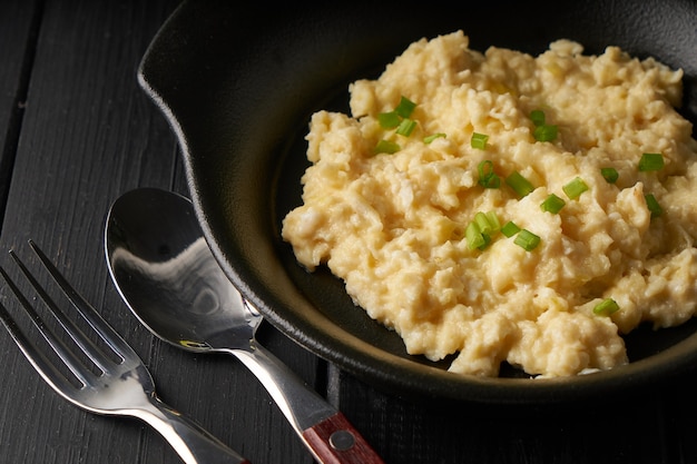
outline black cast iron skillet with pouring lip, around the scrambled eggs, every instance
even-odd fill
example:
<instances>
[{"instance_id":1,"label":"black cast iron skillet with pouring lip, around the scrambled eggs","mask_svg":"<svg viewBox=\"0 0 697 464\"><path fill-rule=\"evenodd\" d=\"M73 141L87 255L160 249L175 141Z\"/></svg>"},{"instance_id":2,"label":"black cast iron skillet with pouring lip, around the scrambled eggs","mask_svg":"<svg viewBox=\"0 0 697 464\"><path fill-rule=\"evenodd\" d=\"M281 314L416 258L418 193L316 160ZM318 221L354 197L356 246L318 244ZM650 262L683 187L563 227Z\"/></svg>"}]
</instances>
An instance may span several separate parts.
<instances>
[{"instance_id":1,"label":"black cast iron skillet with pouring lip, around the scrambled eggs","mask_svg":"<svg viewBox=\"0 0 697 464\"><path fill-rule=\"evenodd\" d=\"M384 3L384 4L383 4ZM468 2L462 2L468 3ZM686 72L684 113L697 112L697 7L687 0L322 2L240 7L186 1L163 26L139 81L177 134L189 188L220 265L283 333L374 386L414 398L534 404L569 402L650 386L697 363L696 323L627 337L631 363L611 372L532 381L458 376L405 354L326 270L308 274L279 238L301 203L312 112L347 111L347 86L377 77L412 41L462 29L471 48L537 55L559 38L589 53L616 45ZM331 4L331 6L330 6Z\"/></svg>"}]
</instances>

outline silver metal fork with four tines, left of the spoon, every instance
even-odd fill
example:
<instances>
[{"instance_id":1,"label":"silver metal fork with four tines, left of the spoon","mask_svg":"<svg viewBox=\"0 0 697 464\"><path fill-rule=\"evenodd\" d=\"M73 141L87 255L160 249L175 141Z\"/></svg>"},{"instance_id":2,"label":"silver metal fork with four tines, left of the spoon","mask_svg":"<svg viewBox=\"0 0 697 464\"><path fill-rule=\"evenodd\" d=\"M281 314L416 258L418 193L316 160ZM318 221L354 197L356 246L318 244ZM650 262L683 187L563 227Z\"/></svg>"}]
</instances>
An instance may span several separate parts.
<instances>
[{"instance_id":1,"label":"silver metal fork with four tines, left of the spoon","mask_svg":"<svg viewBox=\"0 0 697 464\"><path fill-rule=\"evenodd\" d=\"M60 372L57 362L50 361L36 345L30 343L7 308L0 304L2 324L27 356L27 359L41 374L41 377L63 398L91 413L132 416L146 422L169 442L185 463L248 464L244 457L228 448L199 425L164 404L155 393L155 384L150 373L136 352L72 288L32 240L29 240L29 245L80 316L112 351L111 354L105 353L108 351L107 348L92 342L96 338L90 339L86 332L80 329L59 308L56 300L48 295L48 292L39 284L17 254L10 251L10 256L18 265L21 274L27 277L37 295L46 303L46 307L75 342L75 346L69 347L66 343L69 340L63 342L56 336L31 305L30 298L22 294L4 269L0 267L0 274L23 310L65 363L63 372L67 372L65 368L67 367L79 382L75 382L75 379L71 382L67 375ZM72 345L72 343L69 344ZM86 366L87 363L80 359L76 349L81 351L97 366L99 373L95 373L95 369ZM78 383L79 385L77 385Z\"/></svg>"}]
</instances>

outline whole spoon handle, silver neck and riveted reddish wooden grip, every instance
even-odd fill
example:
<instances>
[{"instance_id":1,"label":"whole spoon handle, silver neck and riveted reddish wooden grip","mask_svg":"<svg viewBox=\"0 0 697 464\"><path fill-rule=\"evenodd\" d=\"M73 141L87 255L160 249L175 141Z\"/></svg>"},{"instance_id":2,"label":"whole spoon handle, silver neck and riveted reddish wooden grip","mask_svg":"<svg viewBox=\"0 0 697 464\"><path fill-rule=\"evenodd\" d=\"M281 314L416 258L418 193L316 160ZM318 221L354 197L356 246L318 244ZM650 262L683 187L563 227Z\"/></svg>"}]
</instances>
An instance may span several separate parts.
<instances>
[{"instance_id":1,"label":"whole spoon handle, silver neck and riveted reddish wooden grip","mask_svg":"<svg viewBox=\"0 0 697 464\"><path fill-rule=\"evenodd\" d=\"M263 346L234 349L322 464L383 464L346 417Z\"/></svg>"}]
</instances>

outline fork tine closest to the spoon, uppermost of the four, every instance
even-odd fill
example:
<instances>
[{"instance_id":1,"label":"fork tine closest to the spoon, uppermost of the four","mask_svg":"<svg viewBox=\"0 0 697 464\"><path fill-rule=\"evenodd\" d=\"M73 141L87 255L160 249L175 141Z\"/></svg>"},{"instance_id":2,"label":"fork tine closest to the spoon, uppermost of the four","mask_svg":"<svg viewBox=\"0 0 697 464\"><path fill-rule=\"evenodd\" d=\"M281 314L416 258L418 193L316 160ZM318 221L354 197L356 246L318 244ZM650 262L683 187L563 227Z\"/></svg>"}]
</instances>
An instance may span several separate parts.
<instances>
[{"instance_id":1,"label":"fork tine closest to the spoon, uppermost of the four","mask_svg":"<svg viewBox=\"0 0 697 464\"><path fill-rule=\"evenodd\" d=\"M97 309L95 309L91 304L89 304L89 302L87 302L78 292L76 292L75 288L72 288L70 283L56 268L53 263L51 263L51 260L43 254L43 251L41 251L39 246L35 244L33 240L29 240L29 246L39 257L43 267L46 267L48 273L51 275L51 278L58 284L58 286L68 297L70 303L72 303L75 308L80 313L85 320L89 323L89 325L95 329L99 337L111 347L114 353L121 358L125 358L126 356L136 356L136 353L130 347L130 345L128 345L128 343L126 343L126 340L101 317L101 315L97 312ZM65 319L69 325L73 326L70 319Z\"/></svg>"}]
</instances>

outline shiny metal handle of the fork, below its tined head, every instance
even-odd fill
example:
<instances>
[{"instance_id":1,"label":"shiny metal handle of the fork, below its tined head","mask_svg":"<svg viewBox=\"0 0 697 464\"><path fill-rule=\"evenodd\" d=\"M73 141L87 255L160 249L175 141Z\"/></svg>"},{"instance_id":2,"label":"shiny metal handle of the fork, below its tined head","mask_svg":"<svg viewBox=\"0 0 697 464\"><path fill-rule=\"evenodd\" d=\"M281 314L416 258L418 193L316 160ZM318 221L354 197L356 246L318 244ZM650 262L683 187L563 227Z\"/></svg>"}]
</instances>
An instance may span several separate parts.
<instances>
[{"instance_id":1,"label":"shiny metal handle of the fork, below its tined head","mask_svg":"<svg viewBox=\"0 0 697 464\"><path fill-rule=\"evenodd\" d=\"M156 396L141 418L171 445L186 464L249 464L200 425L163 403Z\"/></svg>"}]
</instances>

